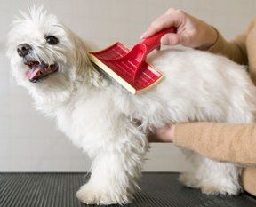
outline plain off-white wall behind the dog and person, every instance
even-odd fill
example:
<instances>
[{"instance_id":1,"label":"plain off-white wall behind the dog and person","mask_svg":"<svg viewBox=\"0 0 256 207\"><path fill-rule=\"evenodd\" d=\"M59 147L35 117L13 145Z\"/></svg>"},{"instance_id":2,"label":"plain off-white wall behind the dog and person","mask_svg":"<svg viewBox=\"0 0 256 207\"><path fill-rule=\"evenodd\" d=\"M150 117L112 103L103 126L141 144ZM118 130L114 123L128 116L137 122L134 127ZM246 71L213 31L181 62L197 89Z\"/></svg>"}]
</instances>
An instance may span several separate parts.
<instances>
[{"instance_id":1,"label":"plain off-white wall behind the dog and person","mask_svg":"<svg viewBox=\"0 0 256 207\"><path fill-rule=\"evenodd\" d=\"M19 10L44 5L69 28L100 47L116 40L132 45L149 23L169 7L203 19L228 39L256 16L255 0L0 0L0 171L87 171L90 160L33 108L14 83L4 54L10 23ZM184 157L172 144L153 144L145 171L184 171Z\"/></svg>"}]
</instances>

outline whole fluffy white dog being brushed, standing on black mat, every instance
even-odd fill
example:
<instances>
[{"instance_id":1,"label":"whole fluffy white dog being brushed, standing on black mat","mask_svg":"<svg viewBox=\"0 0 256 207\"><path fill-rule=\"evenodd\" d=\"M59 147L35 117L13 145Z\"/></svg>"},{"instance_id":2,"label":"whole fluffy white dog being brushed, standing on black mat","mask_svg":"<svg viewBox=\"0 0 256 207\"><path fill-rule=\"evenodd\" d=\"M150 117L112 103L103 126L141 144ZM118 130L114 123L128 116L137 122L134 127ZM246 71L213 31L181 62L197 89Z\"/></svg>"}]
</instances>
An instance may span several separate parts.
<instances>
[{"instance_id":1,"label":"whole fluffy white dog being brushed, standing on black mat","mask_svg":"<svg viewBox=\"0 0 256 207\"><path fill-rule=\"evenodd\" d=\"M150 127L254 120L256 90L244 67L227 58L196 50L155 52L148 62L164 73L164 81L132 95L100 75L88 47L56 16L34 8L13 23L7 50L12 75L36 108L56 119L60 131L93 159L91 179L76 194L83 203L132 200ZM239 193L239 167L185 151L195 165L180 176L186 186L207 194Z\"/></svg>"}]
</instances>

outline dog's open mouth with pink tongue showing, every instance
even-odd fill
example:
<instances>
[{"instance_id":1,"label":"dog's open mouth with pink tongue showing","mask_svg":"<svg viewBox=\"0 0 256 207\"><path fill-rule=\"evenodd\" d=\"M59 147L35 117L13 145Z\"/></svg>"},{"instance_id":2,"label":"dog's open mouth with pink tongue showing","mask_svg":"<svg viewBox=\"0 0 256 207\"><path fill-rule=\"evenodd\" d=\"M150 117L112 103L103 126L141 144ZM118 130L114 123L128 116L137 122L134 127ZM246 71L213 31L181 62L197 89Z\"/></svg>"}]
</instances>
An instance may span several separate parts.
<instances>
[{"instance_id":1,"label":"dog's open mouth with pink tongue showing","mask_svg":"<svg viewBox=\"0 0 256 207\"><path fill-rule=\"evenodd\" d=\"M24 64L29 67L29 70L26 71L26 76L28 77L28 80L33 83L36 83L41 78L58 71L57 64L48 65L44 62L38 62L35 60L27 60Z\"/></svg>"}]
</instances>

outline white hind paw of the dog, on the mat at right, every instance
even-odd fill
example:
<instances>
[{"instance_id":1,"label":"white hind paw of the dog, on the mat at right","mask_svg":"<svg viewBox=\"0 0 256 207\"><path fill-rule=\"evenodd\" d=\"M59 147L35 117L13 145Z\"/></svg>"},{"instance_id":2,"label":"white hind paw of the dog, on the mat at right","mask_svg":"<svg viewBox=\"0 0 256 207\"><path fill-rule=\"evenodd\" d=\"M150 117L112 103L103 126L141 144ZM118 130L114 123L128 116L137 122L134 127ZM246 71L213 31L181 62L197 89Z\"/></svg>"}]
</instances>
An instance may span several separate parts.
<instances>
[{"instance_id":1,"label":"white hind paw of the dog, on the mat at right","mask_svg":"<svg viewBox=\"0 0 256 207\"><path fill-rule=\"evenodd\" d=\"M237 195L241 192L241 187L223 187L218 185L202 185L201 191L207 195Z\"/></svg>"}]
</instances>

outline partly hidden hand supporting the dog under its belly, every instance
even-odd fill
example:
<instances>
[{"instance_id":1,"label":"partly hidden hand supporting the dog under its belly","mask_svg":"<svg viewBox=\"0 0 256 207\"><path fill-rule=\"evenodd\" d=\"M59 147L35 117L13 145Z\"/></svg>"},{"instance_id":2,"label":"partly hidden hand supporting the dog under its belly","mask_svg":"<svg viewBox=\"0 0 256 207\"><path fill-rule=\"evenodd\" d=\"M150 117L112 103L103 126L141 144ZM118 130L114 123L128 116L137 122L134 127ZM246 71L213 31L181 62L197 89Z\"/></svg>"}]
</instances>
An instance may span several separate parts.
<instances>
[{"instance_id":1,"label":"partly hidden hand supporting the dog under its belly","mask_svg":"<svg viewBox=\"0 0 256 207\"><path fill-rule=\"evenodd\" d=\"M148 135L149 142L172 142L175 124L170 123L164 128L155 129Z\"/></svg>"}]
</instances>

